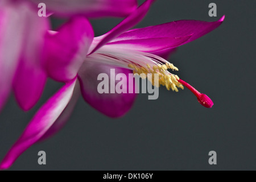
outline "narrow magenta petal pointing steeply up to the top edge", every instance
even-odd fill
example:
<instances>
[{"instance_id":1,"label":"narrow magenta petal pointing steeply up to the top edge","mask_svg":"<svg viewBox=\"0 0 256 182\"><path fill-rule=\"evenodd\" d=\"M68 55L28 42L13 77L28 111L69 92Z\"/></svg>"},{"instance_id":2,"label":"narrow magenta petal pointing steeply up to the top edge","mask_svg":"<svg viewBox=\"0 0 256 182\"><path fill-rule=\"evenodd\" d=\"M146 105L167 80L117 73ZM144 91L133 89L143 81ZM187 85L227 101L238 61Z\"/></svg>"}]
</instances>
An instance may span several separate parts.
<instances>
[{"instance_id":1,"label":"narrow magenta petal pointing steeply up to the top edge","mask_svg":"<svg viewBox=\"0 0 256 182\"><path fill-rule=\"evenodd\" d=\"M151 4L155 0L146 0L141 6L138 7L133 13L131 13L127 18L122 20L117 26L110 30L105 35L99 36L93 39L92 47L90 47L90 54L97 51L100 47L104 46L110 40L116 38L118 35L122 34L124 31L135 26L139 23L144 16L147 14L147 11L150 9Z\"/></svg>"}]
</instances>

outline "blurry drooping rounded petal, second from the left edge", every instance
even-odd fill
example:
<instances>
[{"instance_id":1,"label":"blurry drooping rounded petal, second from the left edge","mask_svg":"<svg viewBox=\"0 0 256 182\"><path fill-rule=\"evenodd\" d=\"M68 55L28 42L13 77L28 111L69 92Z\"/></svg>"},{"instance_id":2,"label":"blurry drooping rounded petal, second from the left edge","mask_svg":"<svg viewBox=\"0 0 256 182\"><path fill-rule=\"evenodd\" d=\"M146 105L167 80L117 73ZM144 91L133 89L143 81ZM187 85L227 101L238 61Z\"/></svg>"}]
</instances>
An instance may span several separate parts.
<instances>
[{"instance_id":1,"label":"blurry drooping rounded petal, second from the left edge","mask_svg":"<svg viewBox=\"0 0 256 182\"><path fill-rule=\"evenodd\" d=\"M28 10L22 54L16 70L13 88L16 100L23 110L30 110L39 100L46 83L44 71L44 35L48 30L48 19L39 18L35 11Z\"/></svg>"}]
</instances>

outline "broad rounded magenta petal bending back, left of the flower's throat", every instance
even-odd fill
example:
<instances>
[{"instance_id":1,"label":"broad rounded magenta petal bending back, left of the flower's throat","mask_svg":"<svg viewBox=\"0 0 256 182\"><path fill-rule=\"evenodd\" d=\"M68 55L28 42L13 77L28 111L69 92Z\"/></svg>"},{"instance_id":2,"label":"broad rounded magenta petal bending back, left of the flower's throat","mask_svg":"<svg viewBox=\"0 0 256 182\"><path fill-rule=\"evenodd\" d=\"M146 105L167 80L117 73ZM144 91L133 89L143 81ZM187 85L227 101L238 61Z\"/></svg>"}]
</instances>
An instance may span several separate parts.
<instances>
[{"instance_id":1,"label":"broad rounded magenta petal bending back, left of the flower's throat","mask_svg":"<svg viewBox=\"0 0 256 182\"><path fill-rule=\"evenodd\" d=\"M57 81L76 77L93 40L88 19L72 18L57 34L47 34L46 59L48 75Z\"/></svg>"}]
</instances>

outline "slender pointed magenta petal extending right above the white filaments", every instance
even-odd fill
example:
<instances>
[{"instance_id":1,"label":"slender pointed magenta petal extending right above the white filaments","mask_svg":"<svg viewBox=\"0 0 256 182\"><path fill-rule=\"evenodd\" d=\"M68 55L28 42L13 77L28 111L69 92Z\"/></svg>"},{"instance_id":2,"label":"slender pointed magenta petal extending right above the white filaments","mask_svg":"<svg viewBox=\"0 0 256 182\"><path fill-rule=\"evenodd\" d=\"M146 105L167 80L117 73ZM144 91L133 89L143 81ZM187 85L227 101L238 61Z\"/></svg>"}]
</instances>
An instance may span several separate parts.
<instances>
[{"instance_id":1,"label":"slender pointed magenta petal extending right above the white filaments","mask_svg":"<svg viewBox=\"0 0 256 182\"><path fill-rule=\"evenodd\" d=\"M114 43L108 43L104 47L108 48L124 48L126 50L135 50L141 52L155 52L162 49L173 48L187 42L191 35L181 38L150 38L150 39L134 39L121 40Z\"/></svg>"}]
</instances>

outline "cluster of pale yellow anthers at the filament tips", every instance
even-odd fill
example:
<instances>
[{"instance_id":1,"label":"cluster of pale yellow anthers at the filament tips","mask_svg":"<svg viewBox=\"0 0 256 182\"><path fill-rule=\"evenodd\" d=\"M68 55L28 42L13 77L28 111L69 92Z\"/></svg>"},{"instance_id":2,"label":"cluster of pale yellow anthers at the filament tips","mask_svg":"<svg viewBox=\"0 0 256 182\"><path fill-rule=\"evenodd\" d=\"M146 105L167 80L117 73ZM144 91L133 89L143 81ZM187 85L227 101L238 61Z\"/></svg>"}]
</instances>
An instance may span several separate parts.
<instances>
[{"instance_id":1,"label":"cluster of pale yellow anthers at the filament tips","mask_svg":"<svg viewBox=\"0 0 256 182\"><path fill-rule=\"evenodd\" d=\"M143 67L141 65L129 64L128 67L133 69L134 75L139 75L142 77L142 79L148 78L153 86L155 85L154 74L157 73L159 80L158 84L155 86L162 85L165 86L167 90L172 89L172 91L175 92L179 92L177 88L184 89L184 86L179 82L180 78L177 75L173 75L167 71L168 68L177 70L177 68L174 67L174 65L171 63L166 63L163 65L157 64L152 66L150 64L146 64L146 67ZM152 75L148 75L148 73L151 73Z\"/></svg>"}]
</instances>

